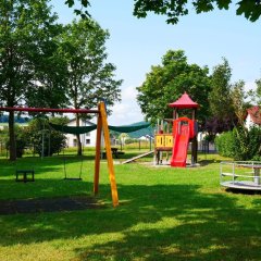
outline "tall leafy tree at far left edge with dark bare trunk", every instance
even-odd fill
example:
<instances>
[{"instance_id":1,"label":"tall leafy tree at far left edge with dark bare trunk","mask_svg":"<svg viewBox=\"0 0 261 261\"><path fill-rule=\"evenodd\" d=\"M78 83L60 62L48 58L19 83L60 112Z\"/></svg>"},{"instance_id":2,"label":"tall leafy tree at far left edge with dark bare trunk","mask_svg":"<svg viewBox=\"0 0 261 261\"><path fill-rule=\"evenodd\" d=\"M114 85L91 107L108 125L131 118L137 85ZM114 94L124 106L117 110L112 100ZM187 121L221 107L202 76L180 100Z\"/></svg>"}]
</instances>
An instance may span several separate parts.
<instances>
[{"instance_id":1,"label":"tall leafy tree at far left edge with dark bare trunk","mask_svg":"<svg viewBox=\"0 0 261 261\"><path fill-rule=\"evenodd\" d=\"M41 69L41 42L49 41L47 32L55 15L48 0L12 0L0 4L0 103L14 107L26 100L37 87L35 72ZM45 53L45 52L44 52ZM10 159L15 160L14 112L9 113Z\"/></svg>"}]
</instances>

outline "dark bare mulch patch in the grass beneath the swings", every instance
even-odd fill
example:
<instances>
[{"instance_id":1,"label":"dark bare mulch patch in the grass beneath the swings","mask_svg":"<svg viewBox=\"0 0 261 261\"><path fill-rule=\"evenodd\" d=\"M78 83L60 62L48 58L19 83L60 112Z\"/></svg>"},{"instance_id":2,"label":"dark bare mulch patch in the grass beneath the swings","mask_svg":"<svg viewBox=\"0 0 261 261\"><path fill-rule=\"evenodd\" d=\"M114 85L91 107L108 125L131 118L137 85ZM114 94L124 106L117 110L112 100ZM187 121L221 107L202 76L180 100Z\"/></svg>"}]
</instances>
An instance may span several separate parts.
<instances>
[{"instance_id":1,"label":"dark bare mulch patch in the grass beneath the swings","mask_svg":"<svg viewBox=\"0 0 261 261\"><path fill-rule=\"evenodd\" d=\"M86 196L0 200L0 215L18 213L74 211L99 208L104 208L104 204L99 203L95 198Z\"/></svg>"}]
</instances>

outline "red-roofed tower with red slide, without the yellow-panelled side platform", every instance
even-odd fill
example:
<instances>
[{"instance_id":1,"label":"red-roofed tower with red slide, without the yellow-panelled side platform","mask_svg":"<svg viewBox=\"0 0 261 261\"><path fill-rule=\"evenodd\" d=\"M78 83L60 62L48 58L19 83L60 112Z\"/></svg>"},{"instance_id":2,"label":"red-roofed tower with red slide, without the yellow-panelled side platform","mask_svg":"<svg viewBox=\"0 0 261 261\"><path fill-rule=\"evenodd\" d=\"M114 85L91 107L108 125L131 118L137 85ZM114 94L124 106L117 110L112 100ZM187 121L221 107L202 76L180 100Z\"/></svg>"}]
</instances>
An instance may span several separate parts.
<instances>
[{"instance_id":1,"label":"red-roofed tower with red slide, without the yellow-panelled side platform","mask_svg":"<svg viewBox=\"0 0 261 261\"><path fill-rule=\"evenodd\" d=\"M173 149L171 166L186 166L187 149L189 141L191 146L191 164L197 162L197 122L196 112L199 104L191 100L185 92L178 100L169 104L173 112ZM178 117L179 110L191 109L191 119ZM186 111L188 113L188 110Z\"/></svg>"}]
</instances>

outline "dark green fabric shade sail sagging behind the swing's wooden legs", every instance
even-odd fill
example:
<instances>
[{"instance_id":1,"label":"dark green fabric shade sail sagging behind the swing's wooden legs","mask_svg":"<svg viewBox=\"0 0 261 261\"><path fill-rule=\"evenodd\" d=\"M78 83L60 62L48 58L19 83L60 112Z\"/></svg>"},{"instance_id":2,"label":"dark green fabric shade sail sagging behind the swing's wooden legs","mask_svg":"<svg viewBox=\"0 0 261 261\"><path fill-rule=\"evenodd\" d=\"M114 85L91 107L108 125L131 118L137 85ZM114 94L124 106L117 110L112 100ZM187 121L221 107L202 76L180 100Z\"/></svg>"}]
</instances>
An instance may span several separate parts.
<instances>
[{"instance_id":1,"label":"dark green fabric shade sail sagging behind the swing's wooden legs","mask_svg":"<svg viewBox=\"0 0 261 261\"><path fill-rule=\"evenodd\" d=\"M90 125L90 126L80 126L80 127L74 127L74 126L63 126L63 125L58 125L53 123L49 123L50 126L59 132L66 133L66 134L85 134L89 133L94 129L97 128L97 125ZM109 129L117 132L117 133L133 133L142 128L149 127L149 123L144 123L144 124L138 124L138 125L124 125L124 126L110 126Z\"/></svg>"}]
</instances>

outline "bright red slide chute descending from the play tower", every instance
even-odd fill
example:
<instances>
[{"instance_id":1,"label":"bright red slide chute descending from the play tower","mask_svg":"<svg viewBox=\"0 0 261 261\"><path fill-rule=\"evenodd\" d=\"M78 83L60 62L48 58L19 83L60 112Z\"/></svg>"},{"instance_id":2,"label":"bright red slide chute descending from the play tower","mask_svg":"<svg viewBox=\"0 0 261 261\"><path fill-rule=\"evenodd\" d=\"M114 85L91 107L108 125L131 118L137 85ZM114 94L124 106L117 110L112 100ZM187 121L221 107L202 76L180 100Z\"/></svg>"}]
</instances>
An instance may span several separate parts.
<instances>
[{"instance_id":1,"label":"bright red slide chute descending from the play tower","mask_svg":"<svg viewBox=\"0 0 261 261\"><path fill-rule=\"evenodd\" d=\"M172 166L186 166L189 133L189 124L182 125L179 122L174 136L174 146L171 159Z\"/></svg>"}]
</instances>

